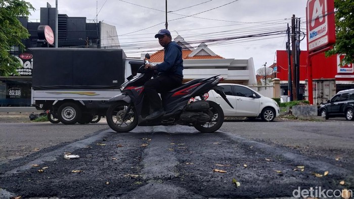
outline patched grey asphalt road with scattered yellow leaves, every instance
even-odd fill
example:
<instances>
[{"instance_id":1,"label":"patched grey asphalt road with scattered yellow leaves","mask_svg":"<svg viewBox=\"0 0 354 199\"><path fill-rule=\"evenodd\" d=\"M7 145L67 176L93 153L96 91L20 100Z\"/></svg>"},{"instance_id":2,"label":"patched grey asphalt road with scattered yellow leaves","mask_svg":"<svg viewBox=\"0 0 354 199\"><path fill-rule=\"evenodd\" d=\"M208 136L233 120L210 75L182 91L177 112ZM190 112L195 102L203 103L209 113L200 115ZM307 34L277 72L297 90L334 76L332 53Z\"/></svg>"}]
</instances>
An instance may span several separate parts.
<instances>
[{"instance_id":1,"label":"patched grey asphalt road with scattered yellow leaves","mask_svg":"<svg viewBox=\"0 0 354 199\"><path fill-rule=\"evenodd\" d=\"M299 187L354 189L349 121L240 120L217 133L184 126L114 133L105 123L0 125L0 198L269 198L292 197ZM80 158L66 160L64 152Z\"/></svg>"}]
</instances>

